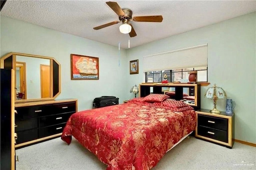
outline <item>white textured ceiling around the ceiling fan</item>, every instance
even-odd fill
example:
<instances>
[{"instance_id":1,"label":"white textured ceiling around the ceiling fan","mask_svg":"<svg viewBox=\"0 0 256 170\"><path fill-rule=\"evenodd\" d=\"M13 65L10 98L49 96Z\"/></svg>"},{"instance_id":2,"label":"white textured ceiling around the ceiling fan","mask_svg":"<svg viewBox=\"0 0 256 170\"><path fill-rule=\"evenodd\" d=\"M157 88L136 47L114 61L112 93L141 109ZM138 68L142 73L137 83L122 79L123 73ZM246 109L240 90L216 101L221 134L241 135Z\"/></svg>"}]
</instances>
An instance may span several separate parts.
<instances>
[{"instance_id":1,"label":"white textured ceiling around the ceiling fan","mask_svg":"<svg viewBox=\"0 0 256 170\"><path fill-rule=\"evenodd\" d=\"M130 23L137 33L130 38L119 32L121 23L94 30L96 26L119 21L117 14L102 0L7 0L1 16L22 20L60 32L122 48L166 38L182 32L228 20L256 11L256 0L176 1L117 0L132 16L162 15L162 22Z\"/></svg>"}]
</instances>

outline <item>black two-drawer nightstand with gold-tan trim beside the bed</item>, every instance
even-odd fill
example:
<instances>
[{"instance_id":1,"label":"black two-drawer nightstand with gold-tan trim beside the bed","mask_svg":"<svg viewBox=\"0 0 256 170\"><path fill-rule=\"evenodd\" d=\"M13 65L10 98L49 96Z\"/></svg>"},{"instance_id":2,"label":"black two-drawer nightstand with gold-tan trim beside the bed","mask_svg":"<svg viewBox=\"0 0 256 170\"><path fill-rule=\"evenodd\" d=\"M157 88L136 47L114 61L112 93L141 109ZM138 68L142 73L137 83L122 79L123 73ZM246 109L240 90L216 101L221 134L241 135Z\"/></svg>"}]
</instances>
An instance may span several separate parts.
<instances>
[{"instance_id":1,"label":"black two-drawer nightstand with gold-tan trim beside the bed","mask_svg":"<svg viewBox=\"0 0 256 170\"><path fill-rule=\"evenodd\" d=\"M213 114L210 110L196 111L196 138L232 148L234 144L234 113Z\"/></svg>"}]
</instances>

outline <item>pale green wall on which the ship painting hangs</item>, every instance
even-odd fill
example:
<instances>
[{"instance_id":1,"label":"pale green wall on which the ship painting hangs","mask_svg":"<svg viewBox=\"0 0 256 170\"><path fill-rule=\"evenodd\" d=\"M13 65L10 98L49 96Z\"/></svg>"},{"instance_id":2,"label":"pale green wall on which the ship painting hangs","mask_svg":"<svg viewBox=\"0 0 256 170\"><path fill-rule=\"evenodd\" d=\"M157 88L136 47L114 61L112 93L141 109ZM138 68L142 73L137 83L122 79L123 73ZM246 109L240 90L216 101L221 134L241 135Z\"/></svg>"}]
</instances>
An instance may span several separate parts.
<instances>
[{"instance_id":1,"label":"pale green wall on which the ship painting hangs","mask_svg":"<svg viewBox=\"0 0 256 170\"><path fill-rule=\"evenodd\" d=\"M126 99L123 91L126 50L122 49L119 55L118 47L3 16L0 26L1 57L19 52L54 57L60 63L61 93L57 99L78 99L78 111L91 109L93 99L102 95L119 97L120 103ZM99 57L99 80L71 80L71 53Z\"/></svg>"}]
</instances>

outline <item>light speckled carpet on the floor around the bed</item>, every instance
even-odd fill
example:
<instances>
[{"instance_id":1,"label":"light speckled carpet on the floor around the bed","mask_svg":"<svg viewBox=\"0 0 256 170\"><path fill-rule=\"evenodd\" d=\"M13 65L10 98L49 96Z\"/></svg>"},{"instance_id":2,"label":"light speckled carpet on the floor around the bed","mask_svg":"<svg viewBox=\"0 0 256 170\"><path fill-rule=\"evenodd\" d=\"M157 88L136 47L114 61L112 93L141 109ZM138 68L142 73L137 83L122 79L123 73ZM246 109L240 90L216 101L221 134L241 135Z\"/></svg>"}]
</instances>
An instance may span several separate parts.
<instances>
[{"instance_id":1,"label":"light speckled carpet on the floor around the bed","mask_svg":"<svg viewBox=\"0 0 256 170\"><path fill-rule=\"evenodd\" d=\"M106 170L106 165L75 138L68 146L55 138L16 150L16 170ZM194 137L167 152L152 170L256 169L256 147L234 143L232 149Z\"/></svg>"}]
</instances>

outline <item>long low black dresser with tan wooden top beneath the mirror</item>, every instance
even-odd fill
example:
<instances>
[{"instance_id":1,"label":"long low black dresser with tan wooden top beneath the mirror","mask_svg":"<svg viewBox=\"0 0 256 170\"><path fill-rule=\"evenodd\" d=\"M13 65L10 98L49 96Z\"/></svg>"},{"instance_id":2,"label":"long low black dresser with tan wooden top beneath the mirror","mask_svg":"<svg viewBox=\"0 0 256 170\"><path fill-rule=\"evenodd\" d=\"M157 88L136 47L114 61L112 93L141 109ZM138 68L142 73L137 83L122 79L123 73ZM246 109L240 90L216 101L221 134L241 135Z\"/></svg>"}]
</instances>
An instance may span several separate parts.
<instances>
[{"instance_id":1,"label":"long low black dresser with tan wooden top beneath the mirror","mask_svg":"<svg viewBox=\"0 0 256 170\"><path fill-rule=\"evenodd\" d=\"M60 136L68 118L77 111L77 99L16 103L15 110L18 148Z\"/></svg>"}]
</instances>

